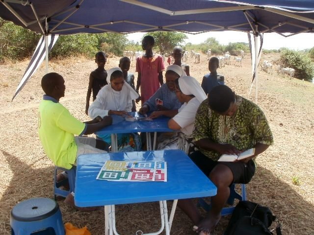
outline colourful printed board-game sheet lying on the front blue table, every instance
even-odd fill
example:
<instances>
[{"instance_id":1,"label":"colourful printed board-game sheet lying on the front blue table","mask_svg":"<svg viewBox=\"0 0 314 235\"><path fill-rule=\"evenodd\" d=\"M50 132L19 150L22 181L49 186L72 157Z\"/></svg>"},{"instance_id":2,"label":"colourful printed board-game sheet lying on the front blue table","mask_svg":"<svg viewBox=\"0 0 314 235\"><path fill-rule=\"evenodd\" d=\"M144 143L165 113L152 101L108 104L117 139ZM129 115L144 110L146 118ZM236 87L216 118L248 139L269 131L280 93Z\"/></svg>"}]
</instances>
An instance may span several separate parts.
<instances>
[{"instance_id":1,"label":"colourful printed board-game sheet lying on the front blue table","mask_svg":"<svg viewBox=\"0 0 314 235\"><path fill-rule=\"evenodd\" d=\"M98 180L167 182L166 162L105 161Z\"/></svg>"}]
</instances>

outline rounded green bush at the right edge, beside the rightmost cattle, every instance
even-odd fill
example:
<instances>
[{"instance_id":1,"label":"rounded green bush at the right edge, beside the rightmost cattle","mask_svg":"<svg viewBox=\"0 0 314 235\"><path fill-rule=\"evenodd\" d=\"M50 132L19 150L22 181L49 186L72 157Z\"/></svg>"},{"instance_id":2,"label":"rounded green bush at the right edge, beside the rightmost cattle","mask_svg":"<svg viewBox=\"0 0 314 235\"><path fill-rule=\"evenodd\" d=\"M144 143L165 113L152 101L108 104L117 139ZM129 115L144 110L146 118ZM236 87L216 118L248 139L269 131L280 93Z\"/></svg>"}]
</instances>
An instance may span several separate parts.
<instances>
[{"instance_id":1,"label":"rounded green bush at the right edge, beside the rightmost cattle","mask_svg":"<svg viewBox=\"0 0 314 235\"><path fill-rule=\"evenodd\" d=\"M295 69L295 77L312 81L314 77L314 63L308 53L283 49L280 54L280 60L283 67Z\"/></svg>"}]
</instances>

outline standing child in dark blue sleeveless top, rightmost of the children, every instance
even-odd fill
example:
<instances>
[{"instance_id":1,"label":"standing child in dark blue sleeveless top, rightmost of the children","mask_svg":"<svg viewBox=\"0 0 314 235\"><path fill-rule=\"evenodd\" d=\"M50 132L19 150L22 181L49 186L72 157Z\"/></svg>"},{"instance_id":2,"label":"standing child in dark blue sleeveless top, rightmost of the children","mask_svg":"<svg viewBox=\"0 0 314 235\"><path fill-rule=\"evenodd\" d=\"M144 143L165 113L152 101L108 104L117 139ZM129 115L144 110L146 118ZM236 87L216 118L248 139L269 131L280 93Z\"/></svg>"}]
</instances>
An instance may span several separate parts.
<instances>
[{"instance_id":1,"label":"standing child in dark blue sleeveless top, rightmost of the children","mask_svg":"<svg viewBox=\"0 0 314 235\"><path fill-rule=\"evenodd\" d=\"M208 69L210 73L205 74L202 80L202 88L206 95L209 94L214 87L225 84L225 77L217 73L218 68L218 58L215 56L210 57L208 62Z\"/></svg>"}]
</instances>

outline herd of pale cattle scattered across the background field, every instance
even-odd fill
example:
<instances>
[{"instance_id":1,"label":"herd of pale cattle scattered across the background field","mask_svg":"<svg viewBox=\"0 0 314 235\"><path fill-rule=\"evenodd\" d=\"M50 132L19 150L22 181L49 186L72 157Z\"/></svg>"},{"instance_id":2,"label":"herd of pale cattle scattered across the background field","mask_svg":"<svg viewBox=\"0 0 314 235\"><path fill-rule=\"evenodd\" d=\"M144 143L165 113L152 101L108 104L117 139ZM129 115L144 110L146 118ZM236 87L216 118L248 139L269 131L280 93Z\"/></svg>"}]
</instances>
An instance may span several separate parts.
<instances>
[{"instance_id":1,"label":"herd of pale cattle scattered across the background field","mask_svg":"<svg viewBox=\"0 0 314 235\"><path fill-rule=\"evenodd\" d=\"M143 51L131 51L131 50L126 50L123 51L123 56L127 56L130 58L131 61L133 61L133 58L137 58L138 56L143 55L144 52ZM163 58L163 61L165 62L165 55L161 55ZM166 54L167 56L167 54ZM207 56L207 60L209 60L210 56L211 56L211 49L208 49L206 52L206 56ZM189 51L184 51L183 52L183 58L182 58L182 62L186 62L188 60L188 57L193 58L194 57L194 63L200 63L200 57L201 54L191 50ZM231 65L231 55L229 53L229 51L227 51L224 55L222 56L217 56L218 60L219 60L219 68L225 67L225 65ZM234 57L234 61L235 61L235 65L238 67L242 67L242 59L244 58L244 51L240 50L240 56L236 56ZM172 58L172 63L173 58ZM262 67L262 71L265 71L266 73L270 73L273 74L273 67L274 65L272 63L270 63L267 60L264 60L263 63L260 63L261 67ZM281 73L284 77L285 75L290 76L290 78L294 77L294 73L295 70L292 68L281 68L280 65L275 66L275 69L277 71L277 74Z\"/></svg>"}]
</instances>

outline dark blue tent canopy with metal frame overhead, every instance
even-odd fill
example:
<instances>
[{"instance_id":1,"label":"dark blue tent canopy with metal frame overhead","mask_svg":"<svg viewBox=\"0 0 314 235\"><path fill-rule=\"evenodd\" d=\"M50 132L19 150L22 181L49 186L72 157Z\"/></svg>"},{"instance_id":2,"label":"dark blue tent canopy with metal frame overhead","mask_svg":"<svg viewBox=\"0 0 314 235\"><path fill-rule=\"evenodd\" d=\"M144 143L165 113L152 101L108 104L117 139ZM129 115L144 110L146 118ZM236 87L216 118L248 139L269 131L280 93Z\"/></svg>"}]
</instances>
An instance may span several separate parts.
<instances>
[{"instance_id":1,"label":"dark blue tent canopy with metal frame overhead","mask_svg":"<svg viewBox=\"0 0 314 235\"><path fill-rule=\"evenodd\" d=\"M256 24L259 32L314 32L313 0L1 0L1 3L1 18L42 34L252 31Z\"/></svg>"}]
</instances>

